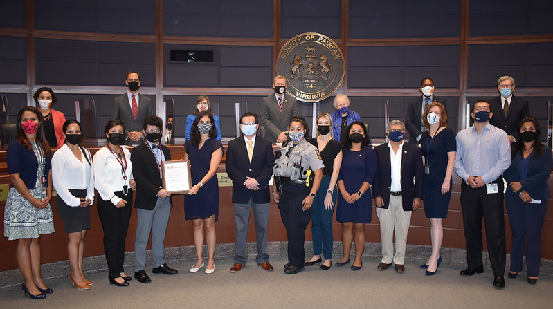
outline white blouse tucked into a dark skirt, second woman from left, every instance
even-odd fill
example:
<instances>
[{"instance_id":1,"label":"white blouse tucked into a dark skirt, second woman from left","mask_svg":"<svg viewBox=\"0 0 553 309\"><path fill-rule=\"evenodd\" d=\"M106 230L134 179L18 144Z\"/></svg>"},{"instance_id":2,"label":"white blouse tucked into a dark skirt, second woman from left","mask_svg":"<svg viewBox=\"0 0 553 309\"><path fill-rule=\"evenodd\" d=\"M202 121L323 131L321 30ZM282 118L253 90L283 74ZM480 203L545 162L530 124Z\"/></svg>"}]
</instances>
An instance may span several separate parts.
<instances>
[{"instance_id":1,"label":"white blouse tucked into a dark skirt, second woman from left","mask_svg":"<svg viewBox=\"0 0 553 309\"><path fill-rule=\"evenodd\" d=\"M80 151L80 149L79 149ZM71 149L64 144L54 153L52 157L52 182L57 191L57 196L72 207L78 207L80 198L73 196L69 189L87 189L87 198L94 202L94 173L92 167L92 156L88 149L89 162L82 156L82 162L73 154Z\"/></svg>"}]
</instances>

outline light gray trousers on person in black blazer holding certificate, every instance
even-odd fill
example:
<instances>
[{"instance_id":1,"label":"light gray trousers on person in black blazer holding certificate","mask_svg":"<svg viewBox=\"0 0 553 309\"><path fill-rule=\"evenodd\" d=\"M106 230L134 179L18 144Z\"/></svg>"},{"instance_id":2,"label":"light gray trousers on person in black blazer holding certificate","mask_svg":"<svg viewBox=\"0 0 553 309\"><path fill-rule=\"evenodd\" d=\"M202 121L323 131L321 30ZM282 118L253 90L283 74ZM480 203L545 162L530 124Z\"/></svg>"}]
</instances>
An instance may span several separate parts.
<instances>
[{"instance_id":1,"label":"light gray trousers on person in black blazer holding certificate","mask_svg":"<svg viewBox=\"0 0 553 309\"><path fill-rule=\"evenodd\" d=\"M152 250L154 250L154 268L165 263L163 260L163 241L171 213L171 198L156 200L156 207L152 210L137 209L138 227L136 227L136 241L134 241L134 271L146 268L146 246L149 232L152 232Z\"/></svg>"}]
</instances>

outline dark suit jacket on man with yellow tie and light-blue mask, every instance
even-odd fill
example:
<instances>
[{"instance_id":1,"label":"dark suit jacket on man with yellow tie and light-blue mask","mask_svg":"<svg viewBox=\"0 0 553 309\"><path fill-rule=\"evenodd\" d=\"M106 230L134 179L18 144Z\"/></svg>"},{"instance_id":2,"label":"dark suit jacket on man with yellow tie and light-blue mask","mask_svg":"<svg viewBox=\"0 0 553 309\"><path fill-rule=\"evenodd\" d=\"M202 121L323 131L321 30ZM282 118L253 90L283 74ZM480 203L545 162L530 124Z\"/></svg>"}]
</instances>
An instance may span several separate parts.
<instances>
[{"instance_id":1,"label":"dark suit jacket on man with yellow tie and light-blue mask","mask_svg":"<svg viewBox=\"0 0 553 309\"><path fill-rule=\"evenodd\" d=\"M233 203L248 203L250 197L256 204L269 203L271 200L269 180L273 176L273 165L275 165L275 156L269 140L259 135L255 137L251 163L248 159L244 135L228 142L225 167L228 177L233 180ZM255 178L260 184L260 189L253 191L246 188L244 185L246 177Z\"/></svg>"}]
</instances>

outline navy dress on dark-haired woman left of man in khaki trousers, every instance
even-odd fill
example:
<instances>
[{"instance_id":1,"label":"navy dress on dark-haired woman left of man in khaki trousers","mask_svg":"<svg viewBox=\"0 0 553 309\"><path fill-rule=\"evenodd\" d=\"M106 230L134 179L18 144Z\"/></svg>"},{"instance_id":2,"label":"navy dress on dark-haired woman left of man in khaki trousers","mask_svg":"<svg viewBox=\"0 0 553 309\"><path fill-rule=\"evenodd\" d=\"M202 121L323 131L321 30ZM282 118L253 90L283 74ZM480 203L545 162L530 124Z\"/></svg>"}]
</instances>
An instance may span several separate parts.
<instances>
[{"instance_id":1,"label":"navy dress on dark-haired woman left of man in khaki trousers","mask_svg":"<svg viewBox=\"0 0 553 309\"><path fill-rule=\"evenodd\" d=\"M342 149L342 165L338 181L344 182L345 191L356 194L363 182L372 185L374 174L377 173L377 153L372 147L366 146L360 151ZM347 203L341 193L336 203L336 221L353 223L370 223L372 212L371 190L367 190L355 203Z\"/></svg>"}]
</instances>

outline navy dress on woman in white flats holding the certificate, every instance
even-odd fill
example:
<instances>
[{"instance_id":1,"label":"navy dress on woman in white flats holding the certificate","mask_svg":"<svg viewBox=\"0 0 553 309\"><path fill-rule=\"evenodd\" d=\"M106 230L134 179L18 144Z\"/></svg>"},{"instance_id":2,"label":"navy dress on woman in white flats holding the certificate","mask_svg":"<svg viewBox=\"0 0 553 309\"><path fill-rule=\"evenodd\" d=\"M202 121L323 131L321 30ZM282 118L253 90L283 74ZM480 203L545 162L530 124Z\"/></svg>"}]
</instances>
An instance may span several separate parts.
<instances>
[{"instance_id":1,"label":"navy dress on woman in white flats holding the certificate","mask_svg":"<svg viewBox=\"0 0 553 309\"><path fill-rule=\"evenodd\" d=\"M208 174L212 153L222 148L223 144L217 138L209 138L203 143L201 149L198 149L197 144L192 144L192 140L187 140L184 147L186 153L188 153L188 160L190 160L192 185L196 185L203 176ZM215 221L217 221L219 218L219 182L217 182L217 175L203 184L203 188L199 189L197 194L185 194L184 214L185 220L207 219L215 214Z\"/></svg>"}]
</instances>

